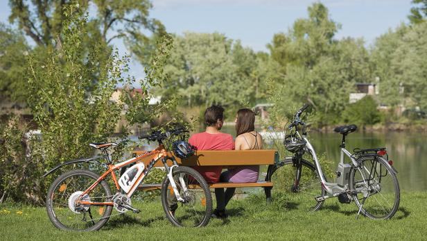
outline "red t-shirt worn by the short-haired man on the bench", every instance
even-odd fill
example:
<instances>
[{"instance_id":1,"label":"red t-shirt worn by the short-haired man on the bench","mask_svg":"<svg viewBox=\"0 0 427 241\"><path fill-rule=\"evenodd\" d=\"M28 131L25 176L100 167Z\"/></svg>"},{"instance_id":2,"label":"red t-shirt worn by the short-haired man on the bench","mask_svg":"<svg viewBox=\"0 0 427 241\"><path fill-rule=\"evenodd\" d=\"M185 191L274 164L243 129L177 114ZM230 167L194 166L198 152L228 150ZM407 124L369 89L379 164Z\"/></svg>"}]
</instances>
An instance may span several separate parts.
<instances>
[{"instance_id":1,"label":"red t-shirt worn by the short-haired man on the bench","mask_svg":"<svg viewBox=\"0 0 427 241\"><path fill-rule=\"evenodd\" d=\"M191 135L189 144L195 147L196 150L233 150L234 141L230 134L218 133L209 134L206 132ZM222 166L205 166L193 167L200 172L208 183L218 183L220 179Z\"/></svg>"}]
</instances>

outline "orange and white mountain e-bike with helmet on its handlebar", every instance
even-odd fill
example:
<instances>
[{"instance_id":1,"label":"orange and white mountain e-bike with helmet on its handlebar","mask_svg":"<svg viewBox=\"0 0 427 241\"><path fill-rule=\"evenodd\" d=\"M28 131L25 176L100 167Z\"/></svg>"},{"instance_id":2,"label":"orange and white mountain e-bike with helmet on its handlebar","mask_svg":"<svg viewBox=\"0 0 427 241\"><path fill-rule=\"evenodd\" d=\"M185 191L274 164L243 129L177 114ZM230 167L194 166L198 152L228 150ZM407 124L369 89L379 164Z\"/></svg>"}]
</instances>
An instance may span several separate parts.
<instances>
[{"instance_id":1,"label":"orange and white mountain e-bike with helmet on its handlebar","mask_svg":"<svg viewBox=\"0 0 427 241\"><path fill-rule=\"evenodd\" d=\"M205 226L212 213L212 197L209 186L204 178L191 167L179 167L174 156L168 154L166 146L173 147L173 153L179 158L186 158L193 154L193 150L184 141L169 141L173 135L185 135L188 131L175 128L165 133L156 131L146 138L159 142L159 147L153 151L143 153L141 156L113 164L107 153L109 147L116 146L114 142L92 143L91 147L101 150L107 161L107 171L101 176L88 170L76 169L65 172L53 181L46 197L46 209L49 219L57 228L68 231L95 231L101 228L112 216L113 208L121 215L128 210L139 213L132 207L131 197L137 190L144 177L150 172L158 160L162 160L166 176L162 183L162 206L166 217L175 226ZM168 143L169 142L169 143ZM141 163L143 158L154 156L145 166ZM47 176L56 169L75 163L96 163L102 165L95 158L82 158L71 160L54 167L44 174ZM171 160L173 165L168 165ZM134 165L132 165L134 164ZM114 171L132 165L119 180ZM111 176L112 192L106 178Z\"/></svg>"}]
</instances>

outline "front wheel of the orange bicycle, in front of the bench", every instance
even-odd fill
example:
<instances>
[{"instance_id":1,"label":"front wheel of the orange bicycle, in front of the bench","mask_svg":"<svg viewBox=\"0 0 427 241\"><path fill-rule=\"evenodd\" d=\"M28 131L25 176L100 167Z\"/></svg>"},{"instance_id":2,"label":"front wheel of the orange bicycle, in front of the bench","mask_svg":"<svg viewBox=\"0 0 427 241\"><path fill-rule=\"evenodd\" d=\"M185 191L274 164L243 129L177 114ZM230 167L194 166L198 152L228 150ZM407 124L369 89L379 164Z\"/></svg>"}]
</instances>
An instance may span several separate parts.
<instances>
[{"instance_id":1,"label":"front wheel of the orange bicycle, in front of the bench","mask_svg":"<svg viewBox=\"0 0 427 241\"><path fill-rule=\"evenodd\" d=\"M191 167L173 167L173 180L184 201L177 201L168 176L162 184L162 206L166 217L175 226L205 226L212 213L209 185Z\"/></svg>"}]
</instances>

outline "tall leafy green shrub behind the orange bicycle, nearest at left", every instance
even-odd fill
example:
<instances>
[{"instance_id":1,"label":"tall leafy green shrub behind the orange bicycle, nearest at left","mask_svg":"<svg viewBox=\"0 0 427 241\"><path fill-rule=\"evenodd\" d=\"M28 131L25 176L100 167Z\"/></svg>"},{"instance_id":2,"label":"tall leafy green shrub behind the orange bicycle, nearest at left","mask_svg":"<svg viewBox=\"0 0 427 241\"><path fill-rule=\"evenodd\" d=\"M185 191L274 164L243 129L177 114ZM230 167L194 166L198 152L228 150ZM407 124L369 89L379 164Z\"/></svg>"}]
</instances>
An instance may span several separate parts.
<instances>
[{"instance_id":1,"label":"tall leafy green shrub behind the orange bicycle, nearest at left","mask_svg":"<svg viewBox=\"0 0 427 241\"><path fill-rule=\"evenodd\" d=\"M92 156L94 150L89 143L108 141L120 118L125 118L129 125L143 124L174 107L174 99L148 105L149 88L164 81L163 66L171 49L171 38L166 35L157 45L153 63L146 67L146 77L140 83L142 94L134 96L135 79L127 74L127 56L119 57L113 51L105 58L105 42L86 43L93 44L89 46L92 51L87 53L88 46L83 44L88 29L84 10L78 1L65 4L59 47L47 46L44 58L39 58L36 52L29 55L27 92L33 121L42 138L30 140L27 154L21 147L25 131L19 130L17 120L0 124L0 138L8 143L0 148L3 167L0 197L6 193L14 201L43 203L53 178L42 178L46 170L65 160ZM118 83L124 87L120 101L111 101ZM120 138L129 133L128 126L123 128ZM126 141L120 142L114 149L115 156L121 157L125 144Z\"/></svg>"}]
</instances>

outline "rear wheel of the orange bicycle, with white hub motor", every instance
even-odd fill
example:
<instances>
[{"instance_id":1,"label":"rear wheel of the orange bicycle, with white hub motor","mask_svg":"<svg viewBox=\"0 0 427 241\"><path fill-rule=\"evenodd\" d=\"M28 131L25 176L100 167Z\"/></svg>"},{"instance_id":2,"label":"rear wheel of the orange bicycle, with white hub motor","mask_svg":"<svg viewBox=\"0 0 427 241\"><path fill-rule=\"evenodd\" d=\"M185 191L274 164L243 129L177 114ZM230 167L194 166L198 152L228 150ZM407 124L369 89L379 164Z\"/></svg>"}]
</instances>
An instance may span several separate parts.
<instances>
[{"instance_id":1,"label":"rear wheel of the orange bicycle, with white hub motor","mask_svg":"<svg viewBox=\"0 0 427 241\"><path fill-rule=\"evenodd\" d=\"M76 205L76 200L99 178L94 172L72 170L53 181L46 197L46 210L53 225L67 231L95 231L112 213L112 206ZM111 201L112 192L105 181L81 197L82 201Z\"/></svg>"}]
</instances>

